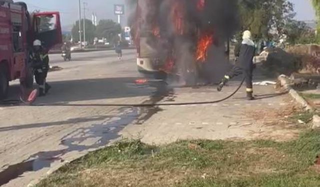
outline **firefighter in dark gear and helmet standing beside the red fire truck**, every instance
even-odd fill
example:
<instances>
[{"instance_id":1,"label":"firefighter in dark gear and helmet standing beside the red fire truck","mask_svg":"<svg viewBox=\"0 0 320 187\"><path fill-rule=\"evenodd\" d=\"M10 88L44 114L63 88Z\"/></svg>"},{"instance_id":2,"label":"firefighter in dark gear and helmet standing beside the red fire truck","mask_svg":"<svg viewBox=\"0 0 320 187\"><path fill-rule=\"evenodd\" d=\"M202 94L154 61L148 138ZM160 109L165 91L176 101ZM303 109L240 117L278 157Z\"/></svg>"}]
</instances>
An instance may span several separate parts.
<instances>
[{"instance_id":1,"label":"firefighter in dark gear and helmet standing beside the red fire truck","mask_svg":"<svg viewBox=\"0 0 320 187\"><path fill-rule=\"evenodd\" d=\"M30 60L32 61L34 69L35 82L39 85L39 96L44 96L51 88L51 86L46 83L46 76L49 70L49 56L43 49L40 40L33 41Z\"/></svg>"}]
</instances>

